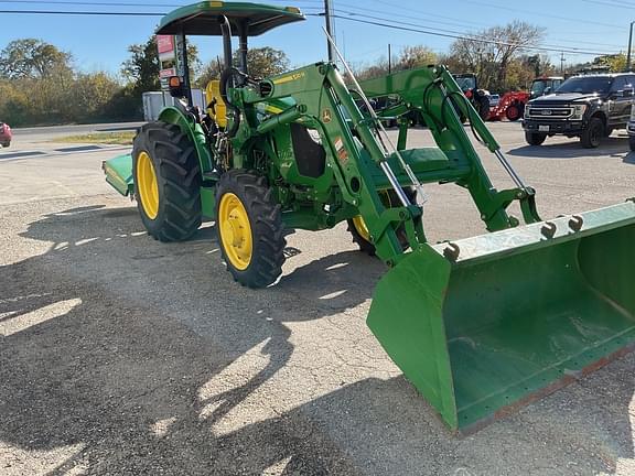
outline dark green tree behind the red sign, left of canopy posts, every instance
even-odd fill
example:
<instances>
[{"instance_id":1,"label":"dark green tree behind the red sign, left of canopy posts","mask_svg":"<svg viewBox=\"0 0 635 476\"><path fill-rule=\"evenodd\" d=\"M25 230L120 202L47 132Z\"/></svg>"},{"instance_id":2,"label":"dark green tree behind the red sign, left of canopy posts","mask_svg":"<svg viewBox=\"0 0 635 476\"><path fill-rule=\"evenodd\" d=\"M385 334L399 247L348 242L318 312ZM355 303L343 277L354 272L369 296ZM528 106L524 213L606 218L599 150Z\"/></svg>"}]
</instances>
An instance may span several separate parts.
<instances>
[{"instance_id":1,"label":"dark green tree behind the red sign, left of canopy posts","mask_svg":"<svg viewBox=\"0 0 635 476\"><path fill-rule=\"evenodd\" d=\"M157 36L150 36L143 44L128 46L128 52L131 57L123 62L121 74L133 85L134 94L140 97L146 91L161 89ZM200 65L198 50L191 43L187 45L187 63L191 76L195 76Z\"/></svg>"}]
</instances>

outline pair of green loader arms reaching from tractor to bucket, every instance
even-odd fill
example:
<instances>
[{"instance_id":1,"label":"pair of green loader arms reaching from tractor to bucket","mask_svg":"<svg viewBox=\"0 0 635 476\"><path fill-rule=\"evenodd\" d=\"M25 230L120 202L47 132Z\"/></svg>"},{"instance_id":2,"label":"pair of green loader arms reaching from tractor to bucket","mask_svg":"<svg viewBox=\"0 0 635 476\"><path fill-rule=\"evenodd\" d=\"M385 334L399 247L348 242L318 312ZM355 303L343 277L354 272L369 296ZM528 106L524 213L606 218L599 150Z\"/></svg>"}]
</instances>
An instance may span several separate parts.
<instances>
[{"instance_id":1,"label":"pair of green loader arms reaching from tractor to bucket","mask_svg":"<svg viewBox=\"0 0 635 476\"><path fill-rule=\"evenodd\" d=\"M539 220L532 188L523 186L497 191L493 186L453 104L472 118L475 133L491 151L499 151L499 145L476 111L464 100L463 93L445 67L401 72L366 82L363 87L369 96L399 95L402 102L409 105L408 108L418 108L431 125L438 150L448 160L438 161L442 162L441 166L430 166L433 150L405 151L406 162L415 169L420 182L454 182L467 188L489 231L518 225L518 219L506 212L516 199L520 202L527 224ZM262 90L267 94L262 94ZM396 235L398 229L406 230L412 250L424 246L427 240L421 226L421 208L413 204L401 207L386 207L383 204L379 191L396 186L390 176L383 176L387 175L386 167L399 170L400 165L394 156L384 152L376 121L359 110L337 68L333 64L319 63L295 69L262 82L259 90L235 89L232 100L237 107L249 110L249 107L254 109L262 102L279 104L286 98L292 98L293 106L270 115L262 122L255 121L251 115L252 123L241 125L243 136L247 137L254 126L265 134L291 122L311 125L321 133L329 166L343 199L358 209L377 255L389 266L395 266L402 258L403 246ZM407 129L401 128L400 134L398 142L403 145ZM245 143L244 140L238 142ZM400 185L410 185L406 174L398 171L396 175L400 175Z\"/></svg>"}]
</instances>

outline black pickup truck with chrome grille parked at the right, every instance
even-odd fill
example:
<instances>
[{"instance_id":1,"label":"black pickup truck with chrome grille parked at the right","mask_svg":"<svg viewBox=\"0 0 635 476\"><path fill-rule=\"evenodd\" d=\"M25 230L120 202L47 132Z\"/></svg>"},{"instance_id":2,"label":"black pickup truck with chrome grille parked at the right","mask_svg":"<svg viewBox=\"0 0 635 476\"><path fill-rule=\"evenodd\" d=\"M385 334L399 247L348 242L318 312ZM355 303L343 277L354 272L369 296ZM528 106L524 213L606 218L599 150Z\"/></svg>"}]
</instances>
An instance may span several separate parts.
<instances>
[{"instance_id":1,"label":"black pickup truck with chrome grille parked at the right","mask_svg":"<svg viewBox=\"0 0 635 476\"><path fill-rule=\"evenodd\" d=\"M555 94L525 107L525 139L540 145L547 137L578 137L596 148L614 129L625 129L633 104L634 73L592 74L567 79Z\"/></svg>"}]
</instances>

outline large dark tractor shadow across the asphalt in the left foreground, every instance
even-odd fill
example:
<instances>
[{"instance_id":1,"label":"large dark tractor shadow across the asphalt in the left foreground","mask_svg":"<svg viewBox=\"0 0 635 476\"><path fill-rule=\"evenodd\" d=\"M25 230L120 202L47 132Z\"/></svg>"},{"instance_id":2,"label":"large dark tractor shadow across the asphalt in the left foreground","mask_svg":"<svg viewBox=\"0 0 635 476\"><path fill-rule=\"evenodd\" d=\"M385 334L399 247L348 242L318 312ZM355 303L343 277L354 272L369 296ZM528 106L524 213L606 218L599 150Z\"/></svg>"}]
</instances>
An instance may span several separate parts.
<instances>
[{"instance_id":1,"label":"large dark tractor shadow across the asphalt in the left foreground","mask_svg":"<svg viewBox=\"0 0 635 476\"><path fill-rule=\"evenodd\" d=\"M284 323L337 314L351 294L314 306L305 289L243 289L213 227L164 245L132 207L53 213L20 235L49 248L0 268L0 441L42 456L0 473L261 474L283 462L284 474L355 474L299 412L215 431L289 364Z\"/></svg>"}]
</instances>

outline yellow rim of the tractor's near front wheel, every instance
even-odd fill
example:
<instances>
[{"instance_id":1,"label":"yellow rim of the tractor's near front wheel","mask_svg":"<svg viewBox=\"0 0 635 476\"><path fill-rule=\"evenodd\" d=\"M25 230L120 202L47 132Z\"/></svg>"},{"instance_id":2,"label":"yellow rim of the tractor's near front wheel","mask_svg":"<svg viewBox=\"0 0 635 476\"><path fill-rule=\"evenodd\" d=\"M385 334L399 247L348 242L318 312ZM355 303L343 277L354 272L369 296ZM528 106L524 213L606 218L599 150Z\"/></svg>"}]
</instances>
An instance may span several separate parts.
<instances>
[{"instance_id":1,"label":"yellow rim of the tractor's near front wheel","mask_svg":"<svg viewBox=\"0 0 635 476\"><path fill-rule=\"evenodd\" d=\"M254 252L251 225L245 205L233 193L226 193L220 198L217 223L227 259L237 270L246 270Z\"/></svg>"}]
</instances>

